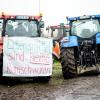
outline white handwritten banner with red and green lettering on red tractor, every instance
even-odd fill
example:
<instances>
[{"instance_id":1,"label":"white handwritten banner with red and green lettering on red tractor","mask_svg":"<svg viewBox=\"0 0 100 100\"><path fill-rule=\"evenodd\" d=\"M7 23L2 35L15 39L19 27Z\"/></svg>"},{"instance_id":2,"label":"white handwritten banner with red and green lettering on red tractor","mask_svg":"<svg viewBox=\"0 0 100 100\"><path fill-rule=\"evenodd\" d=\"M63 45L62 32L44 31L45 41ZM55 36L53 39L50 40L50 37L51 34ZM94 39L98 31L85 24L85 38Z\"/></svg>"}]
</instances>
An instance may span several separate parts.
<instances>
[{"instance_id":1,"label":"white handwritten banner with red and green lettering on red tractor","mask_svg":"<svg viewBox=\"0 0 100 100\"><path fill-rule=\"evenodd\" d=\"M52 75L52 39L5 37L3 76Z\"/></svg>"}]
</instances>

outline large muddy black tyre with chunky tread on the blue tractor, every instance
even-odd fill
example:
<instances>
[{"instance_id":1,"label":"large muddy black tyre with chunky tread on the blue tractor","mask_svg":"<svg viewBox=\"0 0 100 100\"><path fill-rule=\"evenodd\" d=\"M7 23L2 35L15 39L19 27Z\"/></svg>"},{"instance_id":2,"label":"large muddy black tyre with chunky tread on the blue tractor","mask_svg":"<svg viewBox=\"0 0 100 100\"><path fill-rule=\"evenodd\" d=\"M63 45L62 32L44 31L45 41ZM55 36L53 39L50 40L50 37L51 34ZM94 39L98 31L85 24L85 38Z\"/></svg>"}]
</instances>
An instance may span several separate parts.
<instances>
[{"instance_id":1,"label":"large muddy black tyre with chunky tread on the blue tractor","mask_svg":"<svg viewBox=\"0 0 100 100\"><path fill-rule=\"evenodd\" d=\"M77 68L75 66L74 48L61 48L60 56L64 79L75 77Z\"/></svg>"}]
</instances>

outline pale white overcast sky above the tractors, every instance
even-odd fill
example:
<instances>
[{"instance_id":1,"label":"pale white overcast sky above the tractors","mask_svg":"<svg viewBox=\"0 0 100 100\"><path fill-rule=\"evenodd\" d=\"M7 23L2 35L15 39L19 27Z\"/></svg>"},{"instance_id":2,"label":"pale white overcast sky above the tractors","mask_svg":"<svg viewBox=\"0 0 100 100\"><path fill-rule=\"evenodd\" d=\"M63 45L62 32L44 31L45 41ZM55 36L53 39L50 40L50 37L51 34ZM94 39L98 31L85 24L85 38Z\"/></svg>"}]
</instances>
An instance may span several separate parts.
<instances>
[{"instance_id":1,"label":"pale white overcast sky above the tractors","mask_svg":"<svg viewBox=\"0 0 100 100\"><path fill-rule=\"evenodd\" d=\"M39 0L0 0L0 12L38 15ZM100 14L100 0L40 0L40 12L47 25L59 24L66 16Z\"/></svg>"}]
</instances>

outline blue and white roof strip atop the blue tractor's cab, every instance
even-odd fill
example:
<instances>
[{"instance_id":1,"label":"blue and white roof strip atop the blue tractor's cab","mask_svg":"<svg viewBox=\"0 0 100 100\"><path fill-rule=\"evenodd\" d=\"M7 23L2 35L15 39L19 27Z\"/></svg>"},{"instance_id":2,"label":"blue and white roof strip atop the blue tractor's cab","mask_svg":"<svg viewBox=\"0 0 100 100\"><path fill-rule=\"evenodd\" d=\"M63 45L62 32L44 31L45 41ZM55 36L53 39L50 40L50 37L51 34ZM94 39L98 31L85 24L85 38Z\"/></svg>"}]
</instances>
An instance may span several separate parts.
<instances>
[{"instance_id":1,"label":"blue and white roof strip atop the blue tractor's cab","mask_svg":"<svg viewBox=\"0 0 100 100\"><path fill-rule=\"evenodd\" d=\"M78 17L66 17L66 18L69 21L73 21L73 20L81 20L81 19L100 18L100 15L83 15L83 16L78 16Z\"/></svg>"}]
</instances>

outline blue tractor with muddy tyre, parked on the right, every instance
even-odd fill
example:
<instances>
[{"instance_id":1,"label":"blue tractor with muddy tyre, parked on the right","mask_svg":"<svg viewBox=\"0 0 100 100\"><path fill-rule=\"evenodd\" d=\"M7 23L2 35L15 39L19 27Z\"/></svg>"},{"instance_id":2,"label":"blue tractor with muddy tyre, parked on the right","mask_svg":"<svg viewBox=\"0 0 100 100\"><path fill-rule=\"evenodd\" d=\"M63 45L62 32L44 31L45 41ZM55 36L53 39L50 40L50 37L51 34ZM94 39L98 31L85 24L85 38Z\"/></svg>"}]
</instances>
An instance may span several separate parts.
<instances>
[{"instance_id":1,"label":"blue tractor with muddy tyre, parked on the right","mask_svg":"<svg viewBox=\"0 0 100 100\"><path fill-rule=\"evenodd\" d=\"M87 72L99 73L100 15L67 18L69 34L61 40L63 77L73 78Z\"/></svg>"}]
</instances>

